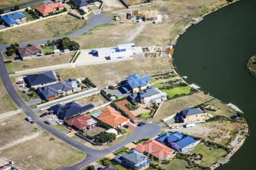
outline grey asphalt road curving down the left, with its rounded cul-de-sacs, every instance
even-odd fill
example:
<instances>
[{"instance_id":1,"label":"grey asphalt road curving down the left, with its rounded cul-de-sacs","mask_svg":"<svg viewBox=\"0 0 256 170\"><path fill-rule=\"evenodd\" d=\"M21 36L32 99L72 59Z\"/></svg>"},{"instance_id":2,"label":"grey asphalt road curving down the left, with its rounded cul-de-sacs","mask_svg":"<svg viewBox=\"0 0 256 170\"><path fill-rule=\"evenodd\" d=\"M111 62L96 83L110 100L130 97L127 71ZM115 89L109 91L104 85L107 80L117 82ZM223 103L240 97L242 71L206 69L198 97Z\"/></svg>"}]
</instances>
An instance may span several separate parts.
<instances>
[{"instance_id":1,"label":"grey asphalt road curving down the left, with its rounded cul-de-sacs","mask_svg":"<svg viewBox=\"0 0 256 170\"><path fill-rule=\"evenodd\" d=\"M96 27L97 25L101 25L101 24L110 22L110 20L111 20L110 16L106 15L106 14L93 15L88 19L88 23L84 28L80 29L77 32L71 33L70 35L68 35L68 37L72 38L72 37L81 35L82 33L85 33L86 31L88 31L89 29L91 29L93 27ZM59 39L59 38L60 37L55 38L55 39ZM46 43L47 40L53 40L53 39L21 42L20 45L44 44L44 43ZM81 143L75 141L73 138L70 138L67 135L56 130L52 126L45 124L42 121L42 119L36 113L34 113L31 110L31 108L26 105L26 103L24 103L24 101L21 99L21 97L15 91L13 84L11 83L9 74L7 73L7 69L6 69L5 63L3 61L2 50L5 49L7 46L9 46L9 45L0 45L0 52L1 52L0 53L0 68L1 68L0 75L1 75L2 82L6 88L6 91L10 95L11 99L14 100L16 105L18 105L18 107L20 109L22 109L22 111L25 114L27 114L27 116L30 116L32 118L32 120L34 120L34 122L36 124L38 124L39 126L41 126L44 130L48 131L52 135L55 135L55 137L61 139L62 141L69 143L69 145L72 145L73 147L76 147L79 150L86 153L86 159L82 160L80 163L77 163L77 164L69 166L69 167L60 167L60 168L56 168L56 169L61 169L61 170L62 169L81 169L81 168L85 167L86 165L88 165L89 163L92 163L95 160L101 158L102 156L107 155L110 152L113 152L114 150L117 150L119 147L125 146L126 144L136 141L138 139L153 138L156 135L158 135L158 133L160 132L161 129L158 125L155 125L155 124L144 125L142 127L135 128L135 130L130 135L130 137L124 139L123 141L117 143L114 146L106 148L105 150L94 150L90 147L82 145Z\"/></svg>"}]
</instances>

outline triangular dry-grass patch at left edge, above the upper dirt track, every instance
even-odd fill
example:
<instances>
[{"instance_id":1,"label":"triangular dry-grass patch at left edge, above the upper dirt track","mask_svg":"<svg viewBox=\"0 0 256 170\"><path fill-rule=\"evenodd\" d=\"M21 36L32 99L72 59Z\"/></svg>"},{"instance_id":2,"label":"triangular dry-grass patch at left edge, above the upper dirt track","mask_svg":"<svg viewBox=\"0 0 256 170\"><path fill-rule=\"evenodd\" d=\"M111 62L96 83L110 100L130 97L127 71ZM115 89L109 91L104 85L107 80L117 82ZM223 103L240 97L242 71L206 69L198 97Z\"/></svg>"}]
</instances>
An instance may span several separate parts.
<instances>
[{"instance_id":1,"label":"triangular dry-grass patch at left edge, above the upper dirt track","mask_svg":"<svg viewBox=\"0 0 256 170\"><path fill-rule=\"evenodd\" d=\"M0 113L5 113L9 111L14 111L17 109L16 104L13 100L11 100L10 96L7 94L5 90L5 86L3 86L2 80L0 79Z\"/></svg>"}]
</instances>

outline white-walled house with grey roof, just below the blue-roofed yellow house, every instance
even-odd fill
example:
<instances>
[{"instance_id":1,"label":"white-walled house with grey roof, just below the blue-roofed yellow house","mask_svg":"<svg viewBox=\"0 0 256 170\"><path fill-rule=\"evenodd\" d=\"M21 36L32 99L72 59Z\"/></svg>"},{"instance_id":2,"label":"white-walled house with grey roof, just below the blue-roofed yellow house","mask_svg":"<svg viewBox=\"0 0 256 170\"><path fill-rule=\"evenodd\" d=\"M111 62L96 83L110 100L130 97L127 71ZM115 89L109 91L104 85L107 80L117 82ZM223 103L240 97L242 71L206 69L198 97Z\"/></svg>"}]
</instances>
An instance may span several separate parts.
<instances>
[{"instance_id":1,"label":"white-walled house with grey roof, just below the blue-roofed yellow house","mask_svg":"<svg viewBox=\"0 0 256 170\"><path fill-rule=\"evenodd\" d=\"M167 97L158 88L151 87L141 90L137 94L130 94L129 99L136 100L142 104L160 104L162 101L167 100Z\"/></svg>"}]
</instances>

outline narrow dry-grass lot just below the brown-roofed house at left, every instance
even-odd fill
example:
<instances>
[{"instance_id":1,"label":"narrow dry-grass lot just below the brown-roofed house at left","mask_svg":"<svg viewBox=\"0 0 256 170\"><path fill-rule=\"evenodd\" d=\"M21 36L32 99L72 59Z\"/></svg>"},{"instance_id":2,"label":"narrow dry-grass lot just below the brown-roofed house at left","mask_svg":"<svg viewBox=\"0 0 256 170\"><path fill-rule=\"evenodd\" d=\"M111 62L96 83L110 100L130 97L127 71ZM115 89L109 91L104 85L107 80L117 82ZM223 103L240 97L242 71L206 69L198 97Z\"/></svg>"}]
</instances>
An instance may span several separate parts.
<instances>
[{"instance_id":1,"label":"narrow dry-grass lot just below the brown-roofed house at left","mask_svg":"<svg viewBox=\"0 0 256 170\"><path fill-rule=\"evenodd\" d=\"M13 71L20 71L26 69L33 69L37 67L59 65L61 63L69 63L73 57L74 53L69 54L57 54L53 57L44 57L36 59L28 59L23 61L15 61L10 63Z\"/></svg>"}]
</instances>

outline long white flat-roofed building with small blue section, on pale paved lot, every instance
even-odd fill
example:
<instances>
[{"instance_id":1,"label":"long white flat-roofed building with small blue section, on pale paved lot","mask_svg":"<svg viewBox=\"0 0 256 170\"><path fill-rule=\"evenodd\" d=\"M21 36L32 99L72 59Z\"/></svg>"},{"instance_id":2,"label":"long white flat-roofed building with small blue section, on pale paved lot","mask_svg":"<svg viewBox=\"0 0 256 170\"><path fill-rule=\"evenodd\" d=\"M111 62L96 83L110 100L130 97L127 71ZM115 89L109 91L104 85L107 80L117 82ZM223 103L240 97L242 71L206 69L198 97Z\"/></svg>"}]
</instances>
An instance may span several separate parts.
<instances>
[{"instance_id":1,"label":"long white flat-roofed building with small blue section, on pale paved lot","mask_svg":"<svg viewBox=\"0 0 256 170\"><path fill-rule=\"evenodd\" d=\"M142 54L141 46L135 46L134 43L119 44L111 48L99 48L96 50L98 57L105 57L109 59L129 58L135 54Z\"/></svg>"}]
</instances>

